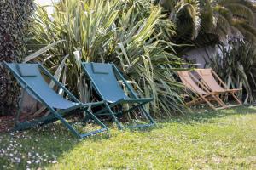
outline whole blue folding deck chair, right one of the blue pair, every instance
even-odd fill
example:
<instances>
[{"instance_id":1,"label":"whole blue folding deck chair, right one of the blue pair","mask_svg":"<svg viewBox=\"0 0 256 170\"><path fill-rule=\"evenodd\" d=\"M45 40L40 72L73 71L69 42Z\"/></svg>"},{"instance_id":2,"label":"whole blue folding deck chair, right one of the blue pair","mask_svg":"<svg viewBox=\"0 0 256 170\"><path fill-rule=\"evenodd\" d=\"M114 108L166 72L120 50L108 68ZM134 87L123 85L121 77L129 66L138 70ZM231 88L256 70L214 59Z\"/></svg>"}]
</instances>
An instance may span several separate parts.
<instances>
[{"instance_id":1,"label":"whole blue folding deck chair, right one of the blue pair","mask_svg":"<svg viewBox=\"0 0 256 170\"><path fill-rule=\"evenodd\" d=\"M119 123L117 116L123 115L135 109L141 109L143 115L148 118L149 123L129 126L128 128L151 127L156 125L154 119L143 108L143 105L152 101L153 98L139 99L133 88L131 88L131 85L126 82L125 78L115 65L104 63L82 63L82 68L84 69L85 74L90 78L90 82L92 87L96 90L96 93L99 94L102 100L107 101L105 108L102 109L102 111L97 111L95 113L96 115L112 116L113 121L117 123L120 129L122 129L124 127ZM128 97L123 88L120 87L117 78L122 80L125 88L128 89L131 98ZM113 107L122 104L132 104L133 106L131 106L131 108L129 108L127 111L122 111L122 109L121 111L113 111Z\"/></svg>"}]
</instances>

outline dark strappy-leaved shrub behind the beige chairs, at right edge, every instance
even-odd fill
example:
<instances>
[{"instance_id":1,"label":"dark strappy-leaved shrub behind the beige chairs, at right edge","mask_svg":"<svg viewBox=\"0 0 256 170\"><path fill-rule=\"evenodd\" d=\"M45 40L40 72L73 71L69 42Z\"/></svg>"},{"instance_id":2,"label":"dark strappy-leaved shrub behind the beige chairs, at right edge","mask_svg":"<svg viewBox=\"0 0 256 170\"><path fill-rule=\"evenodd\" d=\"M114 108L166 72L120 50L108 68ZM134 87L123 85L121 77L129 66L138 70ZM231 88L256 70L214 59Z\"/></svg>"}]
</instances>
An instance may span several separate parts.
<instances>
[{"instance_id":1,"label":"dark strappy-leaved shrub behind the beige chairs, at right edge","mask_svg":"<svg viewBox=\"0 0 256 170\"><path fill-rule=\"evenodd\" d=\"M243 88L244 102L253 102L256 87L256 50L249 42L233 40L229 45L219 45L219 53L211 61L212 68L230 88Z\"/></svg>"}]
</instances>

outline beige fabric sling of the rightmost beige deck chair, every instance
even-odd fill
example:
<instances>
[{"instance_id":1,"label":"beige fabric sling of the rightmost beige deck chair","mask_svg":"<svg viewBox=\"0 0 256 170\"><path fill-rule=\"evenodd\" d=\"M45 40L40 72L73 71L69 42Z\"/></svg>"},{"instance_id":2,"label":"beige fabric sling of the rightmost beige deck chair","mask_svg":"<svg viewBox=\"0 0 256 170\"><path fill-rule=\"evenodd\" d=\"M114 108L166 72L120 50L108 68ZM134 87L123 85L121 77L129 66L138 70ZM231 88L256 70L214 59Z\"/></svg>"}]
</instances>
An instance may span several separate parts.
<instances>
[{"instance_id":1,"label":"beige fabric sling of the rightmost beige deck chair","mask_svg":"<svg viewBox=\"0 0 256 170\"><path fill-rule=\"evenodd\" d=\"M214 92L224 91L219 83L216 81L214 76L212 75L212 69L198 69L195 70L196 73L201 77L203 82L207 84L207 87L210 88Z\"/></svg>"}]
</instances>

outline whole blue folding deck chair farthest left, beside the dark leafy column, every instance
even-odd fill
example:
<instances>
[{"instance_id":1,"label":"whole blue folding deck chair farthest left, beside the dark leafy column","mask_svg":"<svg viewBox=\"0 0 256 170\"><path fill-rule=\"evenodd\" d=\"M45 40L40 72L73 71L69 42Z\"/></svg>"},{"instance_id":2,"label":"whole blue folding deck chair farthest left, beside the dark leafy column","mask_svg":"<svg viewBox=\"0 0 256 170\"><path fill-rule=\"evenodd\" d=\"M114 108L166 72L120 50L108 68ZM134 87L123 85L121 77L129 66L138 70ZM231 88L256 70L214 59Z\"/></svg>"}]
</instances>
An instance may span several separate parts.
<instances>
[{"instance_id":1,"label":"whole blue folding deck chair farthest left, beside the dark leafy column","mask_svg":"<svg viewBox=\"0 0 256 170\"><path fill-rule=\"evenodd\" d=\"M22 130L27 127L34 127L36 125L41 125L49 122L55 122L60 120L75 136L79 138L85 138L90 135L101 133L103 131L107 131L108 127L106 127L99 119L96 118L94 114L92 114L88 108L91 106L103 105L104 102L96 102L96 103L86 103L83 104L76 99L71 92L64 87L61 82L58 82L55 77L53 77L49 71L47 71L43 65L41 64L16 64L16 63L6 63L3 62L9 71L14 75L16 80L20 83L21 88L24 89L28 94L30 94L34 99L37 99L43 105L45 105L50 114L48 116L40 117L36 120L32 120L31 122L19 122L20 116L20 108L15 121L15 130ZM45 82L44 77L42 77L42 73L45 76L48 76L51 80L55 82L58 88L61 88L68 96L69 99L63 98L61 95L55 93L55 91L49 87L49 84ZM23 94L23 93L22 93ZM20 99L20 105L22 105L23 96ZM75 130L64 118L67 116L70 111L81 110L84 112L84 115L89 116L90 119L93 119L98 125L102 128L95 130L90 133L80 134L77 130Z\"/></svg>"}]
</instances>

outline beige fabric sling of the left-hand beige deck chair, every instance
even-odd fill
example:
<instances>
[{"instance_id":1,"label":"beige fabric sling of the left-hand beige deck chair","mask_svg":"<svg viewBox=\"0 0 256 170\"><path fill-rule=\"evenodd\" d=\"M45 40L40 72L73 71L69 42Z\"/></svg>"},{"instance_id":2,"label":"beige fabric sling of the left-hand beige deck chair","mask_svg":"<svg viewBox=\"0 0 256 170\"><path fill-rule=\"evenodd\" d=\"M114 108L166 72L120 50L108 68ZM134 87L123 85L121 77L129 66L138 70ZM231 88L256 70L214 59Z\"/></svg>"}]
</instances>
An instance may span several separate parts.
<instances>
[{"instance_id":1,"label":"beige fabric sling of the left-hand beige deck chair","mask_svg":"<svg viewBox=\"0 0 256 170\"><path fill-rule=\"evenodd\" d=\"M195 83L195 81L190 76L189 71L177 71L177 74L186 88L189 88L191 91L193 91L196 94L207 94L203 89L201 89Z\"/></svg>"}]
</instances>

